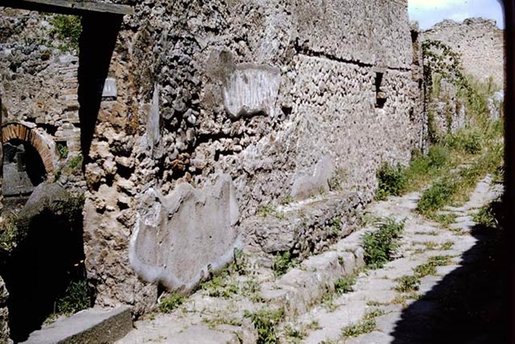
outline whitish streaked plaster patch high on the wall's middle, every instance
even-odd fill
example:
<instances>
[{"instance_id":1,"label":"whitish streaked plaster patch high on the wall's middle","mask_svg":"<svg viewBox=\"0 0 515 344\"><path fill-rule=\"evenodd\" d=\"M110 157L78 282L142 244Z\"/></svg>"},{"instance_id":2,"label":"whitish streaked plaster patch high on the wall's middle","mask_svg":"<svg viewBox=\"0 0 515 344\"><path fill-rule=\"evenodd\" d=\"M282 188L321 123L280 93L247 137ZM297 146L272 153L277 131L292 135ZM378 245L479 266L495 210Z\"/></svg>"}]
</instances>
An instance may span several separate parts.
<instances>
[{"instance_id":1,"label":"whitish streaked plaster patch high on the wall's middle","mask_svg":"<svg viewBox=\"0 0 515 344\"><path fill-rule=\"evenodd\" d=\"M273 116L281 71L268 65L239 64L224 86L224 105L232 118L266 113Z\"/></svg>"}]
</instances>

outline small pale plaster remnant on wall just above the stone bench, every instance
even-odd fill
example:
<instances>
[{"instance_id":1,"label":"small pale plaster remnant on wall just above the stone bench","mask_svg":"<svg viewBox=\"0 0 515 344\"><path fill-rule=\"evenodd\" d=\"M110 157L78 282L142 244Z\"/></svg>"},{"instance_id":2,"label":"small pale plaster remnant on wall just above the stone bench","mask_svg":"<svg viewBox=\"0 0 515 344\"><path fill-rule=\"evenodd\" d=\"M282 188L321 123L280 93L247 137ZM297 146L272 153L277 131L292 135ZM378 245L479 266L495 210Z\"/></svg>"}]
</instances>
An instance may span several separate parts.
<instances>
[{"instance_id":1,"label":"small pale plaster remnant on wall just above the stone bench","mask_svg":"<svg viewBox=\"0 0 515 344\"><path fill-rule=\"evenodd\" d=\"M329 191L328 180L333 172L334 164L331 158L320 159L312 175L304 175L295 180L293 186L291 186L291 195L298 200L303 200L319 194L322 190Z\"/></svg>"}]
</instances>

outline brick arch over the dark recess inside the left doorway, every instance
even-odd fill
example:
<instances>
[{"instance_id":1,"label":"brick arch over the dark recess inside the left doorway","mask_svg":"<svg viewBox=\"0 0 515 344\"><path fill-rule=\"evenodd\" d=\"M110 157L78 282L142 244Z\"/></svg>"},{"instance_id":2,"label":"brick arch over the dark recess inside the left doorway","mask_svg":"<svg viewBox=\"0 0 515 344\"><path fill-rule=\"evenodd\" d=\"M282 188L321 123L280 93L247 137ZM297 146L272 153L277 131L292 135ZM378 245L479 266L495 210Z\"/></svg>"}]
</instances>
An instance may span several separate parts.
<instances>
[{"instance_id":1,"label":"brick arch over the dark recess inside the left doorway","mask_svg":"<svg viewBox=\"0 0 515 344\"><path fill-rule=\"evenodd\" d=\"M57 155L55 143L23 123L11 122L2 125L2 144L9 140L18 139L30 143L38 151L43 160L47 174L56 171Z\"/></svg>"}]
</instances>

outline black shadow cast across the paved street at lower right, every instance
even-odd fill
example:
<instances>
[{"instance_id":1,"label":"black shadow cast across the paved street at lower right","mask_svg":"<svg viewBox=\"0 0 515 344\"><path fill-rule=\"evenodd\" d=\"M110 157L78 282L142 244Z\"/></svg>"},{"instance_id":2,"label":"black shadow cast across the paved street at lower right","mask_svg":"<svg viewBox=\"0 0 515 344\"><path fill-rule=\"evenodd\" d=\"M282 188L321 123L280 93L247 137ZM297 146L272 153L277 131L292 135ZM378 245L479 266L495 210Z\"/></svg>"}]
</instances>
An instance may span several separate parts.
<instances>
[{"instance_id":1,"label":"black shadow cast across the paved street at lower right","mask_svg":"<svg viewBox=\"0 0 515 344\"><path fill-rule=\"evenodd\" d=\"M478 242L462 255L462 266L403 310L393 343L507 342L503 233L476 225L471 234Z\"/></svg>"}]
</instances>

